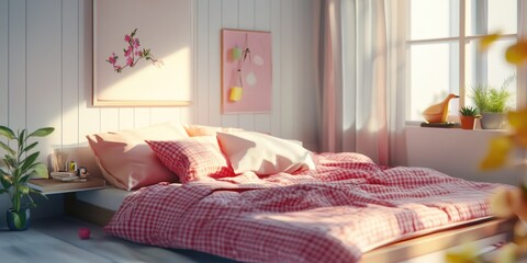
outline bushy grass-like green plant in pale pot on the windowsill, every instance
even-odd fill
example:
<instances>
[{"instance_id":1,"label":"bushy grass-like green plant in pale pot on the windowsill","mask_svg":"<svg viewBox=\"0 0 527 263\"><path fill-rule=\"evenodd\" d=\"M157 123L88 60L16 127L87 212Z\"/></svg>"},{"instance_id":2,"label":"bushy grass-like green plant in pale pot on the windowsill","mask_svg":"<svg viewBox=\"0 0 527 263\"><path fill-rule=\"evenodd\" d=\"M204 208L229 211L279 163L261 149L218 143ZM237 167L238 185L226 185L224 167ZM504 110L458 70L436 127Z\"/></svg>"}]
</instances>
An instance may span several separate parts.
<instances>
[{"instance_id":1,"label":"bushy grass-like green plant in pale pot on the windowsill","mask_svg":"<svg viewBox=\"0 0 527 263\"><path fill-rule=\"evenodd\" d=\"M471 99L481 113L482 128L497 129L504 127L505 111L507 111L507 102L511 98L507 87L515 78L515 75L506 78L500 89L485 84L478 84L472 89L473 95Z\"/></svg>"}]
</instances>

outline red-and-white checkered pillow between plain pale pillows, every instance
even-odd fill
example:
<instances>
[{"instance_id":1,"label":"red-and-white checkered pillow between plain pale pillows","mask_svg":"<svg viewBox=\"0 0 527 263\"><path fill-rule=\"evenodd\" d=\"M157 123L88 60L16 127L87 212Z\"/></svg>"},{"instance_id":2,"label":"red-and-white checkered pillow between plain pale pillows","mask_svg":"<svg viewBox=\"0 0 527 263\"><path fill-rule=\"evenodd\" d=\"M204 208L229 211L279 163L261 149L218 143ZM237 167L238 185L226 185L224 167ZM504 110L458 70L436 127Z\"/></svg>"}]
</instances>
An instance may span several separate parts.
<instances>
[{"instance_id":1,"label":"red-and-white checkered pillow between plain pale pillows","mask_svg":"<svg viewBox=\"0 0 527 263\"><path fill-rule=\"evenodd\" d=\"M235 175L213 136L175 141L146 141L181 183Z\"/></svg>"}]
</instances>

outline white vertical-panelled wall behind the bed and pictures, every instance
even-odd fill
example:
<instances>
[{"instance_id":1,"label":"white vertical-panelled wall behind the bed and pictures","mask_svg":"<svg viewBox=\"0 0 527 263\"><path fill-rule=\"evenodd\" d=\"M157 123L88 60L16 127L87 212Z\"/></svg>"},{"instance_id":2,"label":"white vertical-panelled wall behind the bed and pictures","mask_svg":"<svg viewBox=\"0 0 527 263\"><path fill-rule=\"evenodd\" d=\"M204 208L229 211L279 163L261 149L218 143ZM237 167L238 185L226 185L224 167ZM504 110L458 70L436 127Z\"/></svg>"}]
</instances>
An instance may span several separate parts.
<instances>
[{"instance_id":1,"label":"white vertical-panelled wall behind the bed and pictures","mask_svg":"<svg viewBox=\"0 0 527 263\"><path fill-rule=\"evenodd\" d=\"M0 0L0 125L55 127L41 140L43 160L53 149L86 146L88 134L167 121L266 132L314 149L314 0L191 1L192 105L100 108L91 106L92 1ZM271 32L271 113L221 114L221 28Z\"/></svg>"}]
</instances>

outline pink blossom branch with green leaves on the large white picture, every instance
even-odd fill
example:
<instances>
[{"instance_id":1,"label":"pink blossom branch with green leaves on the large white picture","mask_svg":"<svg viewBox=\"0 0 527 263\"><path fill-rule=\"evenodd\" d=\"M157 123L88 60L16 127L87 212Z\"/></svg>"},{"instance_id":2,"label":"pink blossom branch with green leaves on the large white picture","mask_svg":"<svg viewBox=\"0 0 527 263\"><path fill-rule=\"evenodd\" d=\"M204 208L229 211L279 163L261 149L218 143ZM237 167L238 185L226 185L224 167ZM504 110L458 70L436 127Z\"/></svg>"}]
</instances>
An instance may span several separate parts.
<instances>
[{"instance_id":1,"label":"pink blossom branch with green leaves on the large white picture","mask_svg":"<svg viewBox=\"0 0 527 263\"><path fill-rule=\"evenodd\" d=\"M135 28L130 35L124 36L124 42L127 44L127 47L123 48L124 58L126 60L124 66L117 64L119 56L115 55L115 53L112 53L112 55L106 59L106 61L112 65L113 70L117 73L121 73L123 69L127 67L133 68L143 59L149 60L158 68L162 67L164 65L161 60L158 60L154 57L149 48L143 48L143 50L141 49L139 38L135 36L136 33L137 28Z\"/></svg>"}]
</instances>

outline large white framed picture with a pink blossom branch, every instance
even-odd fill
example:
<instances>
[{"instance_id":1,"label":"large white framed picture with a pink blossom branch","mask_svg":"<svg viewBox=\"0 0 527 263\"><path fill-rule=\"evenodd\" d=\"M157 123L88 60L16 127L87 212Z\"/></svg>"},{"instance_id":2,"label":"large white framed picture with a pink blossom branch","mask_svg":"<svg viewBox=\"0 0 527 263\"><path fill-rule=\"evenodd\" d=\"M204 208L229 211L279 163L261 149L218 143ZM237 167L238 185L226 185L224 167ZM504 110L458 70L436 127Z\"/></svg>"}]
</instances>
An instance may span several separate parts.
<instances>
[{"instance_id":1,"label":"large white framed picture with a pink blossom branch","mask_svg":"<svg viewBox=\"0 0 527 263\"><path fill-rule=\"evenodd\" d=\"M192 98L192 0L93 0L94 106Z\"/></svg>"}]
</instances>

